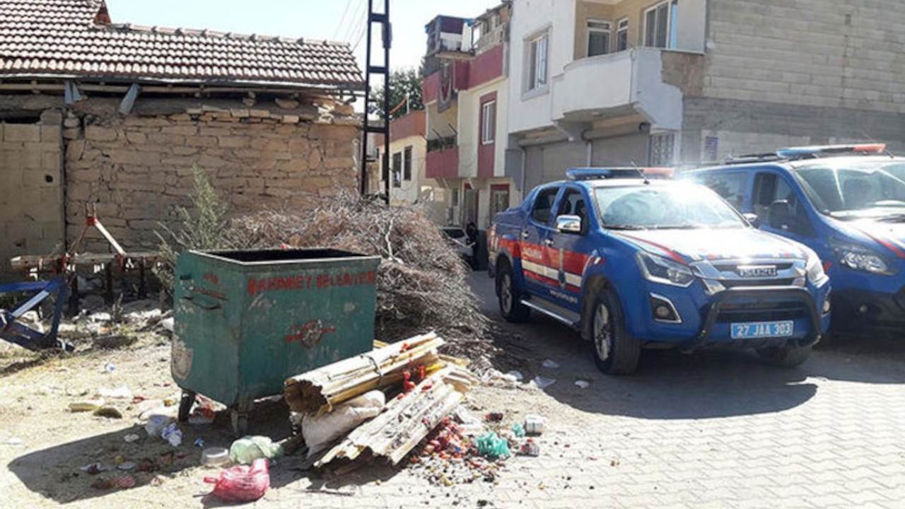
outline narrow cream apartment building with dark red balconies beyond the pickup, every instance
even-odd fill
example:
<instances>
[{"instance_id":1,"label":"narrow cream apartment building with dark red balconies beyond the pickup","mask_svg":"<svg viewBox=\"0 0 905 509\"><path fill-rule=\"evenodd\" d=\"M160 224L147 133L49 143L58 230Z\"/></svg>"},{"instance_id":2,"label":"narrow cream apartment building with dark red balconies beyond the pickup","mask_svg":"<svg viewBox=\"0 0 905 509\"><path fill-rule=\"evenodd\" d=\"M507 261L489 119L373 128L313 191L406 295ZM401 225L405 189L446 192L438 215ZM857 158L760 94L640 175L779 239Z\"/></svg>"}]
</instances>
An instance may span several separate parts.
<instances>
[{"instance_id":1,"label":"narrow cream apartment building with dark red balconies beyond the pickup","mask_svg":"<svg viewBox=\"0 0 905 509\"><path fill-rule=\"evenodd\" d=\"M506 176L510 2L427 25L426 175L443 189L446 222L486 228L510 204Z\"/></svg>"}]
</instances>

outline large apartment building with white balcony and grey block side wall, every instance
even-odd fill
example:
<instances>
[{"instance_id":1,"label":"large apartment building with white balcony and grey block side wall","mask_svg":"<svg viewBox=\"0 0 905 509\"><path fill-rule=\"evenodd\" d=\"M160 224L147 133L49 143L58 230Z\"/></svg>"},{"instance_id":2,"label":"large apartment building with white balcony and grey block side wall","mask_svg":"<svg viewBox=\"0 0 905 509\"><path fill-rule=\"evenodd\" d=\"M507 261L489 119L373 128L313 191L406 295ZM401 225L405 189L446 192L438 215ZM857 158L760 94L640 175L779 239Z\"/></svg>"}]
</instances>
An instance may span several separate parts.
<instances>
[{"instance_id":1,"label":"large apartment building with white balcony and grey block side wall","mask_svg":"<svg viewBox=\"0 0 905 509\"><path fill-rule=\"evenodd\" d=\"M900 0L513 0L508 165L717 161L784 145L905 149Z\"/></svg>"}]
</instances>

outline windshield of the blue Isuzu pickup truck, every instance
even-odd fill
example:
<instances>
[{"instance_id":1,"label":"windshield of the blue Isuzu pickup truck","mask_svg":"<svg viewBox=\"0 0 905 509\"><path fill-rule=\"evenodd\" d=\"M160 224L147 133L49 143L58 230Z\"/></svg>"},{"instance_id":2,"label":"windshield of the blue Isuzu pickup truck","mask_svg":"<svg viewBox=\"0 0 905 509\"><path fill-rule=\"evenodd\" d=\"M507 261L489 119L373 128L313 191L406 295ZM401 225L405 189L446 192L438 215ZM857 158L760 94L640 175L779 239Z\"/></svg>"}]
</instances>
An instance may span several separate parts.
<instances>
[{"instance_id":1,"label":"windshield of the blue Isuzu pickup truck","mask_svg":"<svg viewBox=\"0 0 905 509\"><path fill-rule=\"evenodd\" d=\"M742 228L748 224L707 187L597 187L600 218L608 229Z\"/></svg>"}]
</instances>

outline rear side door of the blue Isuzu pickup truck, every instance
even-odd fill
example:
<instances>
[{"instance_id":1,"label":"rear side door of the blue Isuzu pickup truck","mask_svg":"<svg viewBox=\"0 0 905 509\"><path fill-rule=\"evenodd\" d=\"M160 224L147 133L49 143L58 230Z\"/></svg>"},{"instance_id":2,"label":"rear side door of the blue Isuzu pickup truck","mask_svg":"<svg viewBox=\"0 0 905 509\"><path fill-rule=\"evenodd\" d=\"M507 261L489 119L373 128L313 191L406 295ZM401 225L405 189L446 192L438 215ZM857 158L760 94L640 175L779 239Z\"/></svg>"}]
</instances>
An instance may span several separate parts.
<instances>
[{"instance_id":1,"label":"rear side door of the blue Isuzu pickup truck","mask_svg":"<svg viewBox=\"0 0 905 509\"><path fill-rule=\"evenodd\" d=\"M553 206L556 204L559 186L546 187L538 192L531 206L531 213L522 226L519 239L521 267L525 274L525 286L529 293L548 298L547 288L556 283L556 273L549 268L548 243L551 241Z\"/></svg>"}]
</instances>

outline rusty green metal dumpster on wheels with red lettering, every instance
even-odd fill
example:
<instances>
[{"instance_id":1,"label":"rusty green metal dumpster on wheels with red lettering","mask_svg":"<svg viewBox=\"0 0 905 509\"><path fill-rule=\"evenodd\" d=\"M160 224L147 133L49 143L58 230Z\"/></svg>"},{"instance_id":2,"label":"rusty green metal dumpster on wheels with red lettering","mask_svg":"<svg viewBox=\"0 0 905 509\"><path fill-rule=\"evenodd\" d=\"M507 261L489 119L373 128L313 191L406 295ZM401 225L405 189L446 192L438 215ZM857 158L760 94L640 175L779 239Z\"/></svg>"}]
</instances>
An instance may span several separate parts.
<instances>
[{"instance_id":1,"label":"rusty green metal dumpster on wheels with red lettering","mask_svg":"<svg viewBox=\"0 0 905 509\"><path fill-rule=\"evenodd\" d=\"M244 434L283 380L370 351L379 256L335 249L188 251L176 264L171 371L179 419L203 394Z\"/></svg>"}]
</instances>

